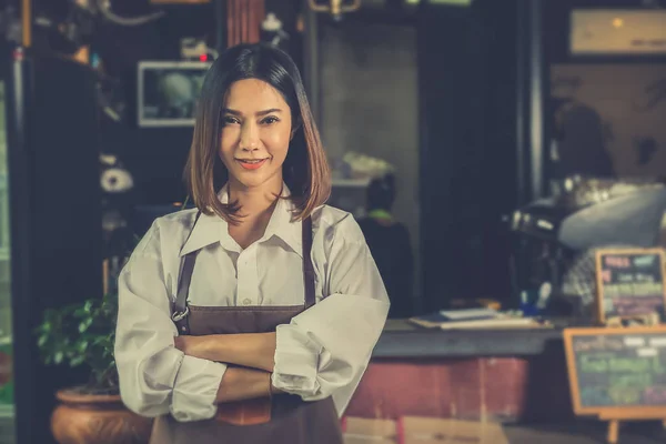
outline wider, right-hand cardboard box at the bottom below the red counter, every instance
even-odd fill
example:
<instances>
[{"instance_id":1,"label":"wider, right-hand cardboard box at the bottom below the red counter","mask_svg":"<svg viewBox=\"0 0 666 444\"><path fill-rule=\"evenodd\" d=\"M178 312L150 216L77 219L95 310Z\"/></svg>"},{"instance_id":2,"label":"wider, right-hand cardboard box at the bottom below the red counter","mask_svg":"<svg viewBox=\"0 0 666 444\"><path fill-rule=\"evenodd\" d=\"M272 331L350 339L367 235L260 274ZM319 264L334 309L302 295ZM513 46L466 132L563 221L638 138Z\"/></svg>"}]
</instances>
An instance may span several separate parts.
<instances>
[{"instance_id":1,"label":"wider, right-hand cardboard box at the bottom below the red counter","mask_svg":"<svg viewBox=\"0 0 666 444\"><path fill-rule=\"evenodd\" d=\"M403 416L401 444L508 444L502 425L492 422Z\"/></svg>"}]
</instances>

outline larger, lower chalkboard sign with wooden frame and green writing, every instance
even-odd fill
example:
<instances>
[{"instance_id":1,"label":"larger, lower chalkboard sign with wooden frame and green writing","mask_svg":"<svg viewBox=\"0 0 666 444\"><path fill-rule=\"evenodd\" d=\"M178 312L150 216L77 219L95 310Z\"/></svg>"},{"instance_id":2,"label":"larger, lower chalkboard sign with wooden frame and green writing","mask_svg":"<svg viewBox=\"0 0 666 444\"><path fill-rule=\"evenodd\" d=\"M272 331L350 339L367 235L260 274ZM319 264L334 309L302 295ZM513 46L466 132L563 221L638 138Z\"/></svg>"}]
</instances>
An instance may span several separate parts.
<instances>
[{"instance_id":1,"label":"larger, lower chalkboard sign with wooden frame and green writing","mask_svg":"<svg viewBox=\"0 0 666 444\"><path fill-rule=\"evenodd\" d=\"M567 329L564 341L576 414L666 417L666 327Z\"/></svg>"}]
</instances>

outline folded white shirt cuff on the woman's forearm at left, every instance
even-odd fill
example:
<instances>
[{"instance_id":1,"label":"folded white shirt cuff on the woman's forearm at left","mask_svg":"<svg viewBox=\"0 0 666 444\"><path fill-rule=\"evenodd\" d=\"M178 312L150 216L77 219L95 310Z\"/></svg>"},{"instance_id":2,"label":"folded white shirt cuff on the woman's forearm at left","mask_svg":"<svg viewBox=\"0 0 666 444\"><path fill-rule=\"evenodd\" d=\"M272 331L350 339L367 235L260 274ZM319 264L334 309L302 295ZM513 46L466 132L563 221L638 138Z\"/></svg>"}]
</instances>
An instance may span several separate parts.
<instances>
[{"instance_id":1,"label":"folded white shirt cuff on the woman's forearm at left","mask_svg":"<svg viewBox=\"0 0 666 444\"><path fill-rule=\"evenodd\" d=\"M171 415L175 421L202 421L215 415L215 397L226 365L184 356L171 397Z\"/></svg>"}]
</instances>

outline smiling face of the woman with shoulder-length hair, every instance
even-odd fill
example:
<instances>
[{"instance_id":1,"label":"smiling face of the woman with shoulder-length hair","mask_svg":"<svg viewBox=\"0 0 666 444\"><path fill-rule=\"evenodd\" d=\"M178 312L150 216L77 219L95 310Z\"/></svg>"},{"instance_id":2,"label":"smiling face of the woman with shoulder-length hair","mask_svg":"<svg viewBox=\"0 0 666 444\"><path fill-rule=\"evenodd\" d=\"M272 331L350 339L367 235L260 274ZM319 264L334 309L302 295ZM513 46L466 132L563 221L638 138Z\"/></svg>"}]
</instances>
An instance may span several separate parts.
<instances>
[{"instance_id":1,"label":"smiling face of the woman with shoulder-length hair","mask_svg":"<svg viewBox=\"0 0 666 444\"><path fill-rule=\"evenodd\" d=\"M291 130L291 110L278 90L256 79L232 83L220 135L220 158L231 184L279 192Z\"/></svg>"}]
</instances>

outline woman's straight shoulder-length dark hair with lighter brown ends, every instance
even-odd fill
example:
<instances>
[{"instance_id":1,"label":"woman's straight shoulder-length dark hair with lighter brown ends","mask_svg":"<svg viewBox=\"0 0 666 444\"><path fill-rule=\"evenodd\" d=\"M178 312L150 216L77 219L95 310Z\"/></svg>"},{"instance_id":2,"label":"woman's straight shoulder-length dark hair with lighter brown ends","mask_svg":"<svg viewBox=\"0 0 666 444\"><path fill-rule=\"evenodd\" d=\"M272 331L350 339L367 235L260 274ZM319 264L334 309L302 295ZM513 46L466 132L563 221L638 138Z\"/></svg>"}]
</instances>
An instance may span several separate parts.
<instances>
[{"instance_id":1,"label":"woman's straight shoulder-length dark hair with lighter brown ends","mask_svg":"<svg viewBox=\"0 0 666 444\"><path fill-rule=\"evenodd\" d=\"M194 204L204 214L218 214L230 223L239 222L235 202L223 204L218 198L229 179L220 159L222 111L231 84L259 79L278 90L292 114L293 137L282 167L284 182L295 204L294 218L303 220L326 202L331 193L331 170L312 118L301 74L293 60L268 44L240 44L225 50L208 71L196 107L192 147L184 180Z\"/></svg>"}]
</instances>

